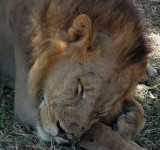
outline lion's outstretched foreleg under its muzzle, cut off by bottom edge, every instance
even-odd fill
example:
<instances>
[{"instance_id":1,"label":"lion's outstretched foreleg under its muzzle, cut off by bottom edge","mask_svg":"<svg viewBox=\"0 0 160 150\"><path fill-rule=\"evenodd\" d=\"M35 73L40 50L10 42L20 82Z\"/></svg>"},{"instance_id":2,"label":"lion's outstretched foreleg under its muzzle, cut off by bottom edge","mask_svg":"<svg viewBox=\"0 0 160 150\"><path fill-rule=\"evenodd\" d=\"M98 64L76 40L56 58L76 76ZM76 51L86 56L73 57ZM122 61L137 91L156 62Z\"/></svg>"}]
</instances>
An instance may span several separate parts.
<instances>
[{"instance_id":1,"label":"lion's outstretched foreleg under its muzzle, cut off by bottom edge","mask_svg":"<svg viewBox=\"0 0 160 150\"><path fill-rule=\"evenodd\" d=\"M81 137L78 145L87 150L145 150L101 123L93 124Z\"/></svg>"}]
</instances>

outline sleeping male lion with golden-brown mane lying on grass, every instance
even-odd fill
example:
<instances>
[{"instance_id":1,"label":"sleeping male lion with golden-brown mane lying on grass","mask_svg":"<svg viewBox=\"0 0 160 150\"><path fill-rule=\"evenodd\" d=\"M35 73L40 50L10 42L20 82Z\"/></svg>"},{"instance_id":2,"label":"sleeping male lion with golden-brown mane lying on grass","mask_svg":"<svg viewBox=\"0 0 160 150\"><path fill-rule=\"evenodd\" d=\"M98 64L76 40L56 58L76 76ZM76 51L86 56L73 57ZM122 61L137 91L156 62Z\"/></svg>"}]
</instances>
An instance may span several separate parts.
<instances>
[{"instance_id":1,"label":"sleeping male lion with golden-brown mane lying on grass","mask_svg":"<svg viewBox=\"0 0 160 150\"><path fill-rule=\"evenodd\" d=\"M1 36L11 39L11 49L14 39L20 121L57 143L78 139L97 121L125 138L142 129L144 111L132 94L146 70L149 48L130 0L0 3L13 31ZM10 30L5 19L1 26Z\"/></svg>"}]
</instances>

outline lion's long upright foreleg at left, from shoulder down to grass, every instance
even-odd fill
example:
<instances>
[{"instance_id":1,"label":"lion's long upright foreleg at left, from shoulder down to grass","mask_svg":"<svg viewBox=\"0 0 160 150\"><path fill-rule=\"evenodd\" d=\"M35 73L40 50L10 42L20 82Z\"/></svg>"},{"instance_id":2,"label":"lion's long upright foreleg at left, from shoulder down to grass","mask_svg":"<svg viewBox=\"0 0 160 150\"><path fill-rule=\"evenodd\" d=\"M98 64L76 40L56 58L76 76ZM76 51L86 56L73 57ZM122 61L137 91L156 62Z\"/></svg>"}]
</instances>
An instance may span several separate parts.
<instances>
[{"instance_id":1,"label":"lion's long upright foreleg at left, from shoulder down to grass","mask_svg":"<svg viewBox=\"0 0 160 150\"><path fill-rule=\"evenodd\" d=\"M16 64L14 114L20 122L36 125L38 106L30 100L27 87L29 37L25 34L26 26L29 24L29 9L32 8L33 4L27 0L13 1L9 11L9 22L14 32L14 56Z\"/></svg>"}]
</instances>

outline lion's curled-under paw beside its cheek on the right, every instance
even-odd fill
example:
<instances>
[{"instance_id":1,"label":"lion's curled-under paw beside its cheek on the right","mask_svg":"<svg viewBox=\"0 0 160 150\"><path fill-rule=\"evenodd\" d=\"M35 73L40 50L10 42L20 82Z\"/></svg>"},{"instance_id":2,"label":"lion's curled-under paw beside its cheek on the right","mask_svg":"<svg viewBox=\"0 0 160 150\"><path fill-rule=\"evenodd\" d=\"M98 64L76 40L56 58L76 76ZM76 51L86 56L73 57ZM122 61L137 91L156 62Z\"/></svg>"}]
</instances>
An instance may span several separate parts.
<instances>
[{"instance_id":1,"label":"lion's curled-under paw beside its cheek on the right","mask_svg":"<svg viewBox=\"0 0 160 150\"><path fill-rule=\"evenodd\" d=\"M127 99L123 103L118 101L100 122L112 127L122 137L130 139L144 126L144 110L134 98Z\"/></svg>"}]
</instances>

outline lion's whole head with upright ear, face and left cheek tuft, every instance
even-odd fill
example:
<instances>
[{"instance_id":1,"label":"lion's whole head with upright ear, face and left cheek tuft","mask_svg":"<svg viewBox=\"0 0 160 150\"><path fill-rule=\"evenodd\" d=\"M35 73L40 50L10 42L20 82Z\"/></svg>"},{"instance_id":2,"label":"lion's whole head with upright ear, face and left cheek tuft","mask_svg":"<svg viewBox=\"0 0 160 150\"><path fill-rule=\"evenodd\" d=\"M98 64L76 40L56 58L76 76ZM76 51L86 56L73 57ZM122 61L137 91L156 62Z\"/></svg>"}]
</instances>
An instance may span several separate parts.
<instances>
[{"instance_id":1,"label":"lion's whole head with upright ear, face and left cheek tuft","mask_svg":"<svg viewBox=\"0 0 160 150\"><path fill-rule=\"evenodd\" d=\"M29 76L31 94L36 95L43 84L39 136L57 143L78 139L107 115L126 94L133 73L133 69L120 67L118 52L111 49L111 37L93 33L86 15L74 20L68 34L69 42L50 42L52 46L47 46Z\"/></svg>"}]
</instances>

